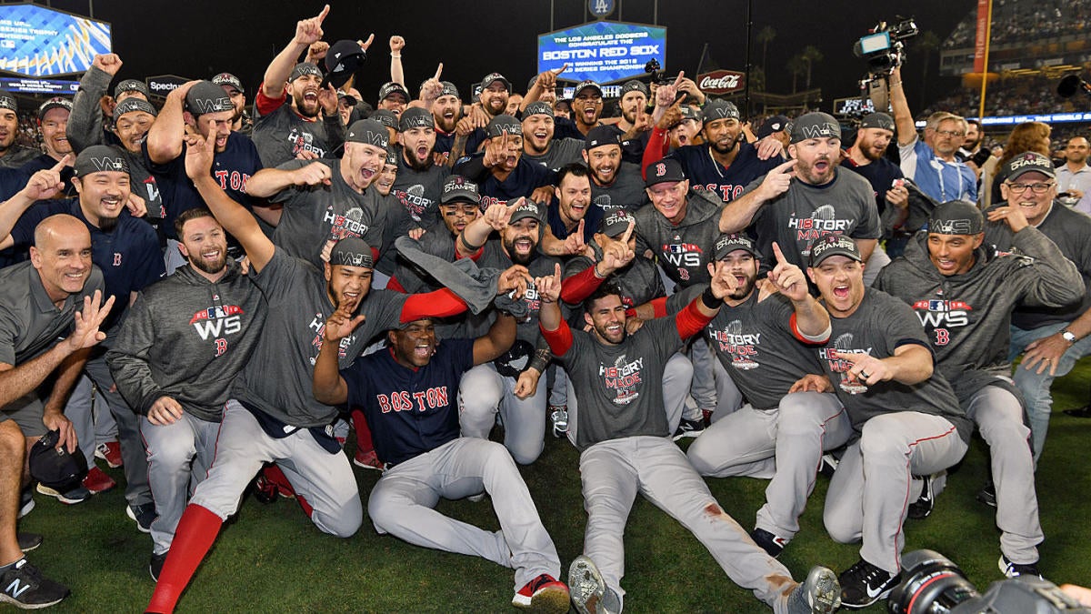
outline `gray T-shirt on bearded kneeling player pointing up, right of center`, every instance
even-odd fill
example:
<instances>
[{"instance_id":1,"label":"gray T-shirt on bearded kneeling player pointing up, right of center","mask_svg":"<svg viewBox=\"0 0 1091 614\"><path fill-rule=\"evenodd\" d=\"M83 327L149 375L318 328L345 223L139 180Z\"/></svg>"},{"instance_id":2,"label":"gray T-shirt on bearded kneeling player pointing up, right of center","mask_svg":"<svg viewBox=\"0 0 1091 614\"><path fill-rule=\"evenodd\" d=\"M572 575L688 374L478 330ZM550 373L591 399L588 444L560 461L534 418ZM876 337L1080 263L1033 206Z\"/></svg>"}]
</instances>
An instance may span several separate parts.
<instances>
[{"instance_id":1,"label":"gray T-shirt on bearded kneeling player pointing up, right of center","mask_svg":"<svg viewBox=\"0 0 1091 614\"><path fill-rule=\"evenodd\" d=\"M806 374L818 373L813 346L792 332L792 302L777 293L731 307L723 305L705 327L709 345L746 400L758 410L780 405L780 399Z\"/></svg>"}]
</instances>

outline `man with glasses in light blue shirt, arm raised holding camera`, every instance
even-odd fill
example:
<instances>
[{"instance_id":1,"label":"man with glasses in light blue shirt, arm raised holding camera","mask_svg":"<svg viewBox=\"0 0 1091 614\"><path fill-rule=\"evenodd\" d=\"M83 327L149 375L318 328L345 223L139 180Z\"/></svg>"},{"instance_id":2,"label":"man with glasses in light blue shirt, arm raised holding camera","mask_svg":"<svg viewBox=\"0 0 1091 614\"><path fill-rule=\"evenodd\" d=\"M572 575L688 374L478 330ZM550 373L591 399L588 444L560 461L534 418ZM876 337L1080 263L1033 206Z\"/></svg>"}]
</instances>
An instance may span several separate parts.
<instances>
[{"instance_id":1,"label":"man with glasses in light blue shirt, arm raised holding camera","mask_svg":"<svg viewBox=\"0 0 1091 614\"><path fill-rule=\"evenodd\" d=\"M901 172L916 181L921 191L936 202L978 200L978 176L956 154L966 142L966 119L949 113L934 113L924 127L924 141L916 135L913 114L901 86L901 69L890 74L890 106L898 127Z\"/></svg>"}]
</instances>

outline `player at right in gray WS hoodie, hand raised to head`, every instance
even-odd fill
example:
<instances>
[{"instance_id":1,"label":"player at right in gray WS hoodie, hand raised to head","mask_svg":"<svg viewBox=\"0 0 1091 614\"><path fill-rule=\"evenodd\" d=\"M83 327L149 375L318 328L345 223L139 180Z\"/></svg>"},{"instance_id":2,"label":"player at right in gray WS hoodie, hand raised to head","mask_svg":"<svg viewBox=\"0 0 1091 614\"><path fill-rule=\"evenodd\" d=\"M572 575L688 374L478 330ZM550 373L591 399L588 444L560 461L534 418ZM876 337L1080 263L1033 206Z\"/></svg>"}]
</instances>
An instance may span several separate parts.
<instances>
[{"instance_id":1,"label":"player at right in gray WS hoodie, hand raised to head","mask_svg":"<svg viewBox=\"0 0 1091 614\"><path fill-rule=\"evenodd\" d=\"M1034 461L1023 408L1008 375L1011 309L1062 307L1082 297L1076 265L1018 206L993 210L1005 222L1020 256L982 247L984 220L968 202L935 209L927 235L919 234L903 259L884 269L876 287L913 307L936 353L936 366L988 444L1000 528L1000 570L1041 577Z\"/></svg>"}]
</instances>

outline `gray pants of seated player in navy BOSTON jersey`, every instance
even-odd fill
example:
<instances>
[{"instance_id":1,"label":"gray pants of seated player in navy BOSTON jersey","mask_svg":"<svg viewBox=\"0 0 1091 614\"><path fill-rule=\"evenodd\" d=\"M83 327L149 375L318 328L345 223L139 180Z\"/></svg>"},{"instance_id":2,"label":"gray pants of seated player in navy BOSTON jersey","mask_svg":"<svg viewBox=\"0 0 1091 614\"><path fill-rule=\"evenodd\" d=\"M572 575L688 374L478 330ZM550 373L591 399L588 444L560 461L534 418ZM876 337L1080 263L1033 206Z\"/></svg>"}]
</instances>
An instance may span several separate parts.
<instances>
[{"instance_id":1,"label":"gray pants of seated player in navy BOSTON jersey","mask_svg":"<svg viewBox=\"0 0 1091 614\"><path fill-rule=\"evenodd\" d=\"M500 531L432 509L440 497L460 499L482 489L492 495ZM380 533L515 568L515 590L541 574L561 577L561 559L530 492L507 449L494 441L460 437L385 471L371 491L368 516Z\"/></svg>"}]
</instances>

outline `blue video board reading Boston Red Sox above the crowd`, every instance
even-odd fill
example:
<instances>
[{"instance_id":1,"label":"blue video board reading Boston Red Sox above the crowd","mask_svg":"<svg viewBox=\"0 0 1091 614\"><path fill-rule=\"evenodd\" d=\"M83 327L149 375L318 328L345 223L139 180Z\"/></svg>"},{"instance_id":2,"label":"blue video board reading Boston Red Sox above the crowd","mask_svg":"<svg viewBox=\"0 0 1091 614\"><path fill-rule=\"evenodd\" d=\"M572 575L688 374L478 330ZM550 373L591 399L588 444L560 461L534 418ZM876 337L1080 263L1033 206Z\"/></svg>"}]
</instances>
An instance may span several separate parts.
<instances>
[{"instance_id":1,"label":"blue video board reading Boston Red Sox above the crowd","mask_svg":"<svg viewBox=\"0 0 1091 614\"><path fill-rule=\"evenodd\" d=\"M568 69L559 79L612 83L645 74L657 59L667 66L667 28L599 21L538 36L538 72Z\"/></svg>"}]
</instances>

